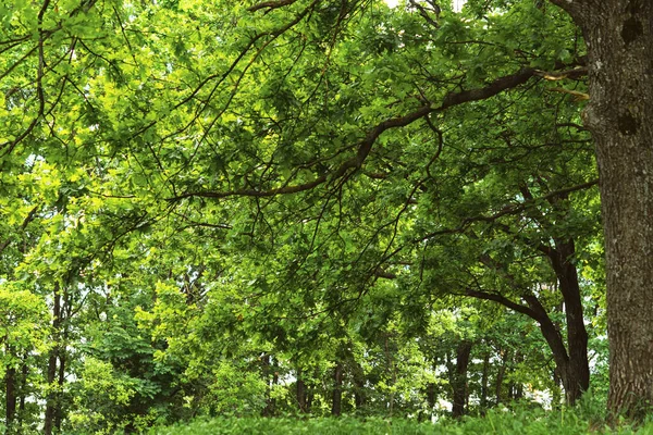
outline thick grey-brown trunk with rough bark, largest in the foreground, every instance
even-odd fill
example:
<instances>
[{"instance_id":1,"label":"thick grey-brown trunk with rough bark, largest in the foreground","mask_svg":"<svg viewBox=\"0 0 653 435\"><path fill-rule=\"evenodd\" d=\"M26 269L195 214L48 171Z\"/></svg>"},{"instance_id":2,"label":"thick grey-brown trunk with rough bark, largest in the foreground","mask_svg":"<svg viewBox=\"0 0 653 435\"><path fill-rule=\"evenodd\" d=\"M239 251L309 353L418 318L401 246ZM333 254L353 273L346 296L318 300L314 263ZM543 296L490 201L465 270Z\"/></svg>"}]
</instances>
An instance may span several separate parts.
<instances>
[{"instance_id":1,"label":"thick grey-brown trunk with rough bark, largest in the foreground","mask_svg":"<svg viewBox=\"0 0 653 435\"><path fill-rule=\"evenodd\" d=\"M552 0L588 45L607 278L613 412L653 403L653 2Z\"/></svg>"}]
</instances>

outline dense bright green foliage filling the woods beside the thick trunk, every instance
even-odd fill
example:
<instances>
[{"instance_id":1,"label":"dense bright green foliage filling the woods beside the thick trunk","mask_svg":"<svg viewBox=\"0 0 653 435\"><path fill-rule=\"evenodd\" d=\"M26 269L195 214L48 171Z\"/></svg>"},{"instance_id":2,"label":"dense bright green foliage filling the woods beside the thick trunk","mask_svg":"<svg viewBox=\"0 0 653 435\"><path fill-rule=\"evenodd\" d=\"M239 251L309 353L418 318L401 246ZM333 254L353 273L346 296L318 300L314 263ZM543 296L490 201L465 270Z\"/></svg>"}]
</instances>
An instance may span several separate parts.
<instances>
[{"instance_id":1,"label":"dense bright green foliage filling the woods beside the thick trunk","mask_svg":"<svg viewBox=\"0 0 653 435\"><path fill-rule=\"evenodd\" d=\"M570 18L250 3L0 5L8 431L587 427L500 411L559 407L574 319L607 388ZM379 419L443 419L459 394L486 420Z\"/></svg>"}]
</instances>

